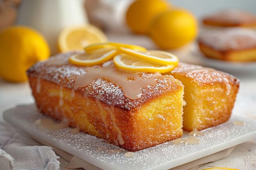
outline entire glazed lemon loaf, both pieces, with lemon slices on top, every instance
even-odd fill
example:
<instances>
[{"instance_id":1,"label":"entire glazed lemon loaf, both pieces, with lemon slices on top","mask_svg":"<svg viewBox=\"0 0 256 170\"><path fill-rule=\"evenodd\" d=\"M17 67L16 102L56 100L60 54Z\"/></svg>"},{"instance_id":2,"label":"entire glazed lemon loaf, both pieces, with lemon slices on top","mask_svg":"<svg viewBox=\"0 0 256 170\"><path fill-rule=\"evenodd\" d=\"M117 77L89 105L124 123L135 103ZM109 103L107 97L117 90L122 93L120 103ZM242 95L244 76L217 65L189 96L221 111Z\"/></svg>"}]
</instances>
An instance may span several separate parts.
<instances>
[{"instance_id":1,"label":"entire glazed lemon loaf, both pieces, with lemon slices on top","mask_svg":"<svg viewBox=\"0 0 256 170\"><path fill-rule=\"evenodd\" d=\"M181 137L182 126L202 130L230 117L238 80L178 61L164 51L108 42L38 62L27 75L43 114L137 151Z\"/></svg>"}]
</instances>

